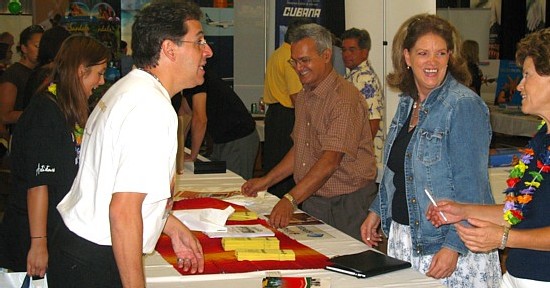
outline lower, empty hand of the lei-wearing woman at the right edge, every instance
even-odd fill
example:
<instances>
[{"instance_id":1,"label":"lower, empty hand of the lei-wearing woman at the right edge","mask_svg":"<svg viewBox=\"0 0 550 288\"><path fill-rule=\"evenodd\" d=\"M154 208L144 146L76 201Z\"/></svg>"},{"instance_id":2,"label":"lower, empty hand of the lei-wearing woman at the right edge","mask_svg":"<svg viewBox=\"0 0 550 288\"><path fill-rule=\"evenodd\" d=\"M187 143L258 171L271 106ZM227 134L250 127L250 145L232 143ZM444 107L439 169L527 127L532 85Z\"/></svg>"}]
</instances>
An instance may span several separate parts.
<instances>
[{"instance_id":1,"label":"lower, empty hand of the lei-wearing woman at the right edge","mask_svg":"<svg viewBox=\"0 0 550 288\"><path fill-rule=\"evenodd\" d=\"M487 252L500 246L502 226L475 218L468 219L468 223L472 226L455 224L458 236L468 249L474 252Z\"/></svg>"}]
</instances>

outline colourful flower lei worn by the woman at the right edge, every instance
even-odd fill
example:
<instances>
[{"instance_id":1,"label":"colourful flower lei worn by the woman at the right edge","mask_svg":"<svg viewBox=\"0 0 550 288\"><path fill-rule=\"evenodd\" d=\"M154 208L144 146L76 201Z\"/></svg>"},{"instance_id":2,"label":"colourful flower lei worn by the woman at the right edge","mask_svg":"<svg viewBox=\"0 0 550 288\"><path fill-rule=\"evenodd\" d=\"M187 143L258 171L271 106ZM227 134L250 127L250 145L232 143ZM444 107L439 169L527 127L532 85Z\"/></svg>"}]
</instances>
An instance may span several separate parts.
<instances>
[{"instance_id":1,"label":"colourful flower lei worn by the woman at the right edge","mask_svg":"<svg viewBox=\"0 0 550 288\"><path fill-rule=\"evenodd\" d=\"M544 126L544 121L541 122L541 125L539 126L539 129ZM508 188L504 191L506 194L506 199L504 200L504 220L506 222L510 223L511 225L516 225L521 220L523 220L523 209L527 205L527 203L531 202L533 200L533 194L539 188L540 181L544 180L542 177L542 172L548 173L550 172L550 146L546 149L546 151L542 152L540 156L540 160L537 161L537 168L539 168L538 171L527 171L527 168L529 163L534 159L535 152L532 148L526 148L523 150L525 154L521 156L521 158L518 161L518 164L514 166L512 171L510 171L510 178L506 180L506 184L508 185ZM525 183L525 188L519 190L519 188L516 187L516 184L518 184L521 181L521 178L525 174L525 172L528 172L533 179L529 182Z\"/></svg>"}]
</instances>

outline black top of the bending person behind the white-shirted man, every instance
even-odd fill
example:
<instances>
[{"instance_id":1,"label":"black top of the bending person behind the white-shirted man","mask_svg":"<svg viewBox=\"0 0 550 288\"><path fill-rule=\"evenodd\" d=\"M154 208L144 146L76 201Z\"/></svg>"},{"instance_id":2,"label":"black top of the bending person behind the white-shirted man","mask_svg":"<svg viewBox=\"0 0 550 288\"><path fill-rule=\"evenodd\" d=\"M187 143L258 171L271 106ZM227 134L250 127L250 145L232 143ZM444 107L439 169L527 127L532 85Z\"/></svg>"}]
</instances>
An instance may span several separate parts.
<instances>
[{"instance_id":1,"label":"black top of the bending person behind the white-shirted man","mask_svg":"<svg viewBox=\"0 0 550 288\"><path fill-rule=\"evenodd\" d=\"M206 92L206 131L216 144L227 143L250 135L256 122L243 101L212 69L206 69L204 83L182 94L193 107L193 96Z\"/></svg>"}]
</instances>

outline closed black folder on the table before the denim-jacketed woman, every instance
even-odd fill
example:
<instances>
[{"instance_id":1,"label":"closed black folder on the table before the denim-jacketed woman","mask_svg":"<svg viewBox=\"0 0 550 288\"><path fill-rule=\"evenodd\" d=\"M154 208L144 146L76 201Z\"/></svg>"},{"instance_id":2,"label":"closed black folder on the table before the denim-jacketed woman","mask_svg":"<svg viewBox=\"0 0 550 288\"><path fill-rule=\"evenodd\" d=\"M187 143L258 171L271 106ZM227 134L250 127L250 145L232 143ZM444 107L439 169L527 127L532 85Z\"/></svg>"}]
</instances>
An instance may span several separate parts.
<instances>
[{"instance_id":1,"label":"closed black folder on the table before the denim-jacketed woman","mask_svg":"<svg viewBox=\"0 0 550 288\"><path fill-rule=\"evenodd\" d=\"M373 250L330 258L332 265L325 267L357 278L367 278L411 267L411 263L386 256Z\"/></svg>"}]
</instances>

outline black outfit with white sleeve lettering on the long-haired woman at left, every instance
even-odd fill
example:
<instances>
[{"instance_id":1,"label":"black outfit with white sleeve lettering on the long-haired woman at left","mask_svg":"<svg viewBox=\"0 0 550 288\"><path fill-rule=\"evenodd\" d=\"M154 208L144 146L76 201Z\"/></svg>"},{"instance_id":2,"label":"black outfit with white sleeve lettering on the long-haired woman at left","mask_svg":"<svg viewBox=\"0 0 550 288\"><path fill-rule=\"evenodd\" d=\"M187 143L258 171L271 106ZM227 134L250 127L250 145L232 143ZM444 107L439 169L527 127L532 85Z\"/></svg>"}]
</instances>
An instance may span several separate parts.
<instances>
[{"instance_id":1,"label":"black outfit with white sleeve lettering on the long-haired woman at left","mask_svg":"<svg viewBox=\"0 0 550 288\"><path fill-rule=\"evenodd\" d=\"M27 189L48 186L48 234L62 221L56 206L78 171L80 147L73 141L73 130L49 93L33 97L17 122L11 151L14 193L9 195L2 228L15 271L26 271L30 248Z\"/></svg>"}]
</instances>

